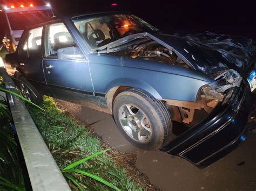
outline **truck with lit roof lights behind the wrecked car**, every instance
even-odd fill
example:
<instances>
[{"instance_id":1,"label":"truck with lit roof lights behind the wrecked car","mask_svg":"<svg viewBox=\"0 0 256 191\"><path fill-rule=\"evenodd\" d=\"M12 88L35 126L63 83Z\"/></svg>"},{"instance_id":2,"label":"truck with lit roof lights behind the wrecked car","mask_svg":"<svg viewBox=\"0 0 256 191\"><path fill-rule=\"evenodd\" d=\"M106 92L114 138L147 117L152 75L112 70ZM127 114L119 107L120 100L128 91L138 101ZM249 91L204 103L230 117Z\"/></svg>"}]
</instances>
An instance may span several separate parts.
<instances>
[{"instance_id":1,"label":"truck with lit roof lights behind the wrecked car","mask_svg":"<svg viewBox=\"0 0 256 191\"><path fill-rule=\"evenodd\" d=\"M2 39L8 39L8 51L15 52L26 27L54 17L50 3L8 3L0 7Z\"/></svg>"}]
</instances>

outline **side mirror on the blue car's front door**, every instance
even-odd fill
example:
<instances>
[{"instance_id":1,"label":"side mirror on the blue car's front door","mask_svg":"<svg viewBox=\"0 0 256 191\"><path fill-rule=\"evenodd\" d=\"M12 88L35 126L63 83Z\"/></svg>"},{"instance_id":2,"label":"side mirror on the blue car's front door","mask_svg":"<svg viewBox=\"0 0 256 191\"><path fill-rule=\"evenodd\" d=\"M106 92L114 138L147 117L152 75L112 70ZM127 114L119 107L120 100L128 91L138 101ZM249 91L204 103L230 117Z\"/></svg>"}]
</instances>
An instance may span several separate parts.
<instances>
[{"instance_id":1,"label":"side mirror on the blue car's front door","mask_svg":"<svg viewBox=\"0 0 256 191\"><path fill-rule=\"evenodd\" d=\"M59 60L86 60L84 54L76 46L58 49L57 56Z\"/></svg>"}]
</instances>

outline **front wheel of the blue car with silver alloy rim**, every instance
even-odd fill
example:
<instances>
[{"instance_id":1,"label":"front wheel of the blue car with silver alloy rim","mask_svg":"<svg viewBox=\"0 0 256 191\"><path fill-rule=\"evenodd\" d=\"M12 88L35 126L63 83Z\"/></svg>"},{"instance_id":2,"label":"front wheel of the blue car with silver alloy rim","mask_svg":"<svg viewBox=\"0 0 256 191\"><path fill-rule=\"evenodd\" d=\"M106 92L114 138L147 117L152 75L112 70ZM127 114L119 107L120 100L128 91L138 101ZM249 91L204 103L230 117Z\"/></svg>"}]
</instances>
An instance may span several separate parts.
<instances>
[{"instance_id":1,"label":"front wheel of the blue car with silver alloy rim","mask_svg":"<svg viewBox=\"0 0 256 191\"><path fill-rule=\"evenodd\" d=\"M169 110L163 102L140 90L119 93L113 102L113 116L119 131L134 146L156 150L170 139Z\"/></svg>"}]
</instances>

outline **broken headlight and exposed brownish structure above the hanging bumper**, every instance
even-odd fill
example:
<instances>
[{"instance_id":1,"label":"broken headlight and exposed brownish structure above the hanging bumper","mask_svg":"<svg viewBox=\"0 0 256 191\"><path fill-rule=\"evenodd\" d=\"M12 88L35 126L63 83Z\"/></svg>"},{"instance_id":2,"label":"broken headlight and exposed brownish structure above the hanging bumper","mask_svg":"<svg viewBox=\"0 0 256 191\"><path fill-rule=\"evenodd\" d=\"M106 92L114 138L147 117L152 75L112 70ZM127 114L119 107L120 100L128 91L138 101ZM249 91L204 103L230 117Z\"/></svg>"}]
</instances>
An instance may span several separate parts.
<instances>
[{"instance_id":1,"label":"broken headlight and exposed brownish structure above the hanging bumper","mask_svg":"<svg viewBox=\"0 0 256 191\"><path fill-rule=\"evenodd\" d=\"M196 102L162 99L171 112L172 121L186 125L184 131L199 123L218 104L228 102L234 89L240 87L242 77L235 70L229 69L215 77L214 80L200 88ZM173 128L176 129L175 126ZM177 136L184 131L178 131Z\"/></svg>"}]
</instances>

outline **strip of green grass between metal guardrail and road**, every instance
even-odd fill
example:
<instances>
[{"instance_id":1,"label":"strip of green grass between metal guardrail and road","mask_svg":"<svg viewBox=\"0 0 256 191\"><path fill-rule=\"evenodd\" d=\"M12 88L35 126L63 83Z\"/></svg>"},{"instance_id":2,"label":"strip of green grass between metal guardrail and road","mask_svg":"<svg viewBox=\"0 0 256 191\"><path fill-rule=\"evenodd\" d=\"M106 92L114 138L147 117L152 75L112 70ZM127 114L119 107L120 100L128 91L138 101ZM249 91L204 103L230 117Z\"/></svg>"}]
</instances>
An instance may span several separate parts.
<instances>
[{"instance_id":1,"label":"strip of green grass between metal guardrail and road","mask_svg":"<svg viewBox=\"0 0 256 191\"><path fill-rule=\"evenodd\" d=\"M66 166L89 155L102 153L89 157L90 160L86 160L86 162L76 164L76 169L72 171L66 169L66 172L70 174L65 177L69 179L71 188L77 189L79 186L75 185L78 182L83 185L84 189L111 189L97 179L90 178L94 175L121 190L146 189L128 177L126 169L116 165L110 154L103 153L104 148L102 148L100 140L93 137L86 126L77 124L76 121L59 110L52 98L44 97L44 102L40 107L46 112L42 113L31 105L29 105L29 110L60 169L64 170ZM73 180L71 175L76 177L76 180Z\"/></svg>"}]
</instances>

